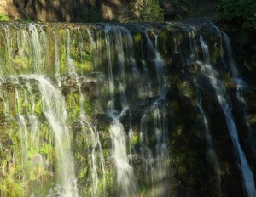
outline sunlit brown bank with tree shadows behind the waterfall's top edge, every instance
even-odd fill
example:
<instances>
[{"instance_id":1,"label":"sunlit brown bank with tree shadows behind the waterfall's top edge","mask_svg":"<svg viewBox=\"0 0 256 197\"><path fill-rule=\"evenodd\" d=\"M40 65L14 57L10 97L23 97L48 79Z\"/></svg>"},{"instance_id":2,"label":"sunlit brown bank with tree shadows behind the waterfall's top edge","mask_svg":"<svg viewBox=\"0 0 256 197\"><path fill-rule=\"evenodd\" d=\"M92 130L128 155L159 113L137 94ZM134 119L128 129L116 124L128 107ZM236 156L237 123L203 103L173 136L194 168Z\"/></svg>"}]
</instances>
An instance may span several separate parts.
<instances>
[{"instance_id":1,"label":"sunlit brown bank with tree shadows behind the waterfall's top edge","mask_svg":"<svg viewBox=\"0 0 256 197\"><path fill-rule=\"evenodd\" d=\"M101 22L133 20L163 20L158 1L117 0L8 0L0 2L0 13L14 19L42 22ZM145 15L145 16L142 16ZM152 18L151 15L154 15ZM147 16L147 17L146 17Z\"/></svg>"}]
</instances>

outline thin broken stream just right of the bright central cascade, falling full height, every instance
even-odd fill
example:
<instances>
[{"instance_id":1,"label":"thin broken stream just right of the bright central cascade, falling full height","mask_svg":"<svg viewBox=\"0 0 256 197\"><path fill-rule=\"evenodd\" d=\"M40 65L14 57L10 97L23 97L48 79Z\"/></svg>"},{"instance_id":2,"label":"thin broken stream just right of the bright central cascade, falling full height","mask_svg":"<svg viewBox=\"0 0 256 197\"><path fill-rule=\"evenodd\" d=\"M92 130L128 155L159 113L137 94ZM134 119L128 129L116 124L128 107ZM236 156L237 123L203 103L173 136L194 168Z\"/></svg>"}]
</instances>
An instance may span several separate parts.
<instances>
[{"instance_id":1,"label":"thin broken stream just right of the bright central cascade, falling full height","mask_svg":"<svg viewBox=\"0 0 256 197\"><path fill-rule=\"evenodd\" d=\"M154 195L156 196L170 196L170 191L168 189L168 179L166 174L168 173L169 157L168 157L168 134L167 134L167 124L166 124L166 109L165 109L165 84L163 76L163 66L164 62L160 57L158 51L158 36L154 35L154 45L153 42L147 37L147 46L150 53L153 53L154 66L156 70L157 84L159 88L159 98L154 102L151 107L151 112L154 117L154 132L155 132L155 151L156 151L156 162L153 169L153 180L154 182L159 182L159 186L154 186ZM155 47L153 47L155 46Z\"/></svg>"}]
</instances>

